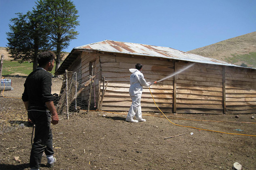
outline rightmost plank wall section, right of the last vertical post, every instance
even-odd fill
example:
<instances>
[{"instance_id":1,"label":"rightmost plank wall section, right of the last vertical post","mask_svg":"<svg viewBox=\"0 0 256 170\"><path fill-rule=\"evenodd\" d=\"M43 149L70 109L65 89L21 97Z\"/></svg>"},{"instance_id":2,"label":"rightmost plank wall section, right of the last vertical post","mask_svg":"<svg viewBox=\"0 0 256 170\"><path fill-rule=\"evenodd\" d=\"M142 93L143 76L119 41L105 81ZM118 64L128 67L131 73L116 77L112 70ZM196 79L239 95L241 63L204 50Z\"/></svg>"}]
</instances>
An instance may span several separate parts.
<instances>
[{"instance_id":1,"label":"rightmost plank wall section, right of the last vertical post","mask_svg":"<svg viewBox=\"0 0 256 170\"><path fill-rule=\"evenodd\" d=\"M256 113L256 70L227 67L225 77L227 113Z\"/></svg>"}]
</instances>

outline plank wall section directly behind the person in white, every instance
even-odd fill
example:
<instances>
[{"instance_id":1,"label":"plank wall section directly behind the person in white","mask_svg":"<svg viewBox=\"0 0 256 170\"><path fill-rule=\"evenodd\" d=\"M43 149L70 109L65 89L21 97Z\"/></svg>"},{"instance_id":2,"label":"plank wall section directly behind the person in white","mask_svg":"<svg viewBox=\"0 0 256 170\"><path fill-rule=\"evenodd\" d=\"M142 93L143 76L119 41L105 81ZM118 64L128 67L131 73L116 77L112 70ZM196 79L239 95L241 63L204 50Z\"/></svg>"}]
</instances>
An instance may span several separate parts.
<instances>
[{"instance_id":1,"label":"plank wall section directly behind the person in white","mask_svg":"<svg viewBox=\"0 0 256 170\"><path fill-rule=\"evenodd\" d=\"M130 75L129 68L135 68L136 63L143 65L142 73L147 82L154 82L174 72L174 62L167 59L149 57L100 56L101 74L108 80L107 91L104 96L103 110L127 111L131 105L129 95ZM101 82L101 91L103 82ZM163 112L172 112L173 78L166 79L154 86L151 92L156 104ZM141 106L143 112L159 112L154 105L149 88L144 87Z\"/></svg>"}]
</instances>

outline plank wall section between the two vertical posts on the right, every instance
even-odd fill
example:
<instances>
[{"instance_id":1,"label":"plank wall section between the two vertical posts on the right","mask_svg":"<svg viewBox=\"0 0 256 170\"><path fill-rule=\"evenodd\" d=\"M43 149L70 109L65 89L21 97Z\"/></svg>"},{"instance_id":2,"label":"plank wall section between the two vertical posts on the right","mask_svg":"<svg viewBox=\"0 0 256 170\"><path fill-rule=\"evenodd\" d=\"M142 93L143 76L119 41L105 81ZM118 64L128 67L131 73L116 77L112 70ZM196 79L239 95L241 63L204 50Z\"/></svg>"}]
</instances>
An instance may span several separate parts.
<instances>
[{"instance_id":1,"label":"plank wall section between the two vertical posts on the right","mask_svg":"<svg viewBox=\"0 0 256 170\"><path fill-rule=\"evenodd\" d=\"M191 63L178 62L176 70ZM223 113L223 68L196 63L177 75L177 113Z\"/></svg>"}]
</instances>

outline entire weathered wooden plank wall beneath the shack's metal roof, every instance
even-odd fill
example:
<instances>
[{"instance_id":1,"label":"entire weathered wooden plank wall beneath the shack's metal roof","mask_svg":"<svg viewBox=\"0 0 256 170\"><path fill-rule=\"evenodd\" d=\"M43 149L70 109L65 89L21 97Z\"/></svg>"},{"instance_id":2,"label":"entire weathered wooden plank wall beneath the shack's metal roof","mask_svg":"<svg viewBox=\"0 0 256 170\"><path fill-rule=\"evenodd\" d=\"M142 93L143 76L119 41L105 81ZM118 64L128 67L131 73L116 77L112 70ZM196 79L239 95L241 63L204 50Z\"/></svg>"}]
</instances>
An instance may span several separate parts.
<instances>
[{"instance_id":1,"label":"entire weathered wooden plank wall beneath the shack's metal roof","mask_svg":"<svg viewBox=\"0 0 256 170\"><path fill-rule=\"evenodd\" d=\"M168 61L165 58L125 56L122 54L85 53L81 55L81 80L88 80L90 62L95 63L96 106L101 100L103 77L108 80L102 110L128 112L129 68L143 65L147 82L154 82L185 68L190 63ZM174 86L174 82L176 83ZM100 88L100 91L99 91ZM256 71L220 65L196 63L180 74L151 86L158 107L166 113L242 114L256 112ZM175 91L174 91L175 89ZM94 91L94 90L93 90ZM81 97L87 101L89 86ZM94 93L91 95L94 107ZM176 99L174 101L174 99ZM149 88L144 87L141 99L143 112L159 112Z\"/></svg>"}]
</instances>

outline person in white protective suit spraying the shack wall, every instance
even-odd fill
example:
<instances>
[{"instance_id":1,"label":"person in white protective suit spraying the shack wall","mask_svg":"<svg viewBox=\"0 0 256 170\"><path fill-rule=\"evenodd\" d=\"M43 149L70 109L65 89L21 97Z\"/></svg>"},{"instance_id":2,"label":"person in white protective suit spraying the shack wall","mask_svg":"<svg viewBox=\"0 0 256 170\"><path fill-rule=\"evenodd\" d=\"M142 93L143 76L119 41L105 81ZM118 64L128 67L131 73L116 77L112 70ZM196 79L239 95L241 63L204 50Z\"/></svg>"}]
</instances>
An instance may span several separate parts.
<instances>
[{"instance_id":1,"label":"person in white protective suit spraying the shack wall","mask_svg":"<svg viewBox=\"0 0 256 170\"><path fill-rule=\"evenodd\" d=\"M151 82L146 82L144 79L143 74L141 73L142 65L140 63L137 63L135 65L135 68L130 68L130 72L132 74L130 75L130 98L132 99L132 105L130 106L129 112L126 117L126 121L129 122L139 122L139 121L146 121L145 119L142 119L142 113L141 113L141 105L140 105L140 99L142 95L142 86L148 87L150 86ZM133 117L136 116L137 120L134 120Z\"/></svg>"}]
</instances>

